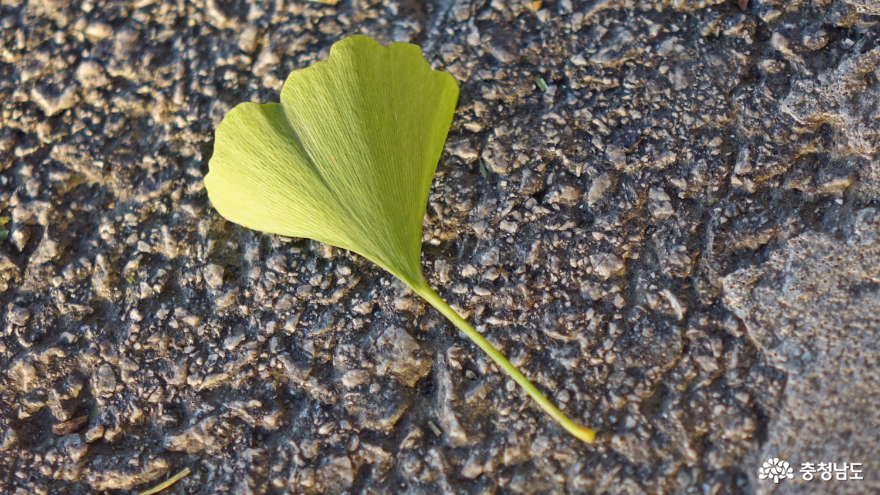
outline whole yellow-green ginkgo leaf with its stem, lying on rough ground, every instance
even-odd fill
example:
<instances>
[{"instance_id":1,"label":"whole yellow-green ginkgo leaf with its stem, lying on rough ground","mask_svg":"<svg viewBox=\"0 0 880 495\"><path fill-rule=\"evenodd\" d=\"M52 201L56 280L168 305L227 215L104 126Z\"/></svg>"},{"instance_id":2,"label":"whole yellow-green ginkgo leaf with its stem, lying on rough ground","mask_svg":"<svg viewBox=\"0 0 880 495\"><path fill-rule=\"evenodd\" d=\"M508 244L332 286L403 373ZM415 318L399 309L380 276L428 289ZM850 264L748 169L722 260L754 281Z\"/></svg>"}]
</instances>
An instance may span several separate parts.
<instances>
[{"instance_id":1,"label":"whole yellow-green ginkgo leaf with its stem, lying on rough ground","mask_svg":"<svg viewBox=\"0 0 880 495\"><path fill-rule=\"evenodd\" d=\"M548 401L422 275L422 222L458 85L421 49L365 36L337 42L326 62L290 74L280 103L242 103L217 128L205 187L228 220L354 251L421 295L473 340L566 430Z\"/></svg>"}]
</instances>

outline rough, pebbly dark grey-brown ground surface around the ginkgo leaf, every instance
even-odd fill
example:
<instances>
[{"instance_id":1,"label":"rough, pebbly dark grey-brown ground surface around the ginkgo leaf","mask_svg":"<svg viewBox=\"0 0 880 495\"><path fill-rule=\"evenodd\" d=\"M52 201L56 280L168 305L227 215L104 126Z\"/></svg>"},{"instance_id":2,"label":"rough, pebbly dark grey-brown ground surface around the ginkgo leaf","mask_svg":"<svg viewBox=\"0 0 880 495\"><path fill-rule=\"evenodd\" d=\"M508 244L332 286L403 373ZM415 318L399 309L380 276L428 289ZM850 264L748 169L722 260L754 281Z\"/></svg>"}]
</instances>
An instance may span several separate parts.
<instances>
[{"instance_id":1,"label":"rough, pebbly dark grey-brown ground surface around the ginkgo leaf","mask_svg":"<svg viewBox=\"0 0 880 495\"><path fill-rule=\"evenodd\" d=\"M0 491L876 491L880 3L742 3L0 0ZM595 445L211 208L225 112L354 33L459 81L425 272Z\"/></svg>"}]
</instances>

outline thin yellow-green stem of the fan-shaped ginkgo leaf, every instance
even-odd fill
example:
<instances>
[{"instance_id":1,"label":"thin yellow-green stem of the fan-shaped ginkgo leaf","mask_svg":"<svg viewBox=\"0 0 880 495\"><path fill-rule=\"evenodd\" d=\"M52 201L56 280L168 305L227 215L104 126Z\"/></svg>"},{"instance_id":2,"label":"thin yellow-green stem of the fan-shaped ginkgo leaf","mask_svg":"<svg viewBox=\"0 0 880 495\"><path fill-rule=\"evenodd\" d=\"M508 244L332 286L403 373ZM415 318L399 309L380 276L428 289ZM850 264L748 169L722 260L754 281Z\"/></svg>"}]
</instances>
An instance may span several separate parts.
<instances>
[{"instance_id":1,"label":"thin yellow-green stem of the fan-shaped ginkgo leaf","mask_svg":"<svg viewBox=\"0 0 880 495\"><path fill-rule=\"evenodd\" d=\"M537 402L538 405L540 405L541 408L550 415L550 417L555 419L560 426L562 426L563 428L568 430L569 433L583 440L584 442L593 443L593 440L596 439L595 431L584 426L575 424L574 421L569 419L568 416L557 409L552 402L547 400L547 398L544 397L543 394L541 394L541 392L532 384L532 382L529 381L528 378L523 376L523 374L520 373L514 365L510 364L510 361L508 361L503 354L498 352L498 349L495 349L495 347L493 347L488 340L480 335L480 333L477 332L474 327L470 326L468 322L464 320L464 318L459 316L459 314L456 313L454 309L449 307L449 305L446 304L446 301L444 301L436 292L434 292L434 289L432 289L427 282L422 282L420 284L410 284L410 286L417 294L422 296L425 301L428 301L431 306L437 308L437 311L443 313L443 315L446 316L449 321L451 321L456 327L458 327L459 330L464 332L464 334L467 335L468 338L471 339L475 344L477 344L480 349L488 354L489 357L491 357L492 360L501 367L501 369L503 369L508 375L510 375L510 377L513 378L513 380L518 383L520 387L525 389L525 391L528 392L533 399L535 399L535 402Z\"/></svg>"}]
</instances>

